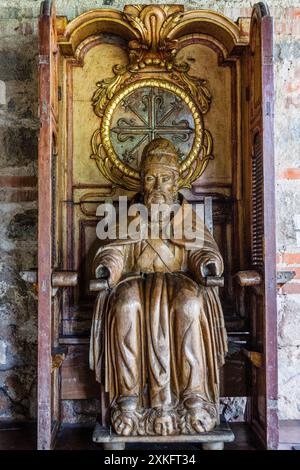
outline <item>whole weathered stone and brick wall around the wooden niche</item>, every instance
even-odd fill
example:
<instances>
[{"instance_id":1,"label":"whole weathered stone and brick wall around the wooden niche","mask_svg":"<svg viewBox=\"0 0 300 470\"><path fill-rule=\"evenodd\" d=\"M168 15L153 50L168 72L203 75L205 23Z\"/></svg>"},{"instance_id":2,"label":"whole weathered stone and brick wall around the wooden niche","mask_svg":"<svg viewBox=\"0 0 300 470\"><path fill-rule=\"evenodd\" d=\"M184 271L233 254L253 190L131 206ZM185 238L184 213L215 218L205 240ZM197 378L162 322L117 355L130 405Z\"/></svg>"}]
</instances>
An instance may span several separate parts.
<instances>
[{"instance_id":1,"label":"whole weathered stone and brick wall around the wooden niche","mask_svg":"<svg viewBox=\"0 0 300 470\"><path fill-rule=\"evenodd\" d=\"M56 2L57 14L69 19L91 8L122 9L125 3ZM236 20L249 16L253 3L192 0L186 8L211 8ZM36 294L19 272L35 267L37 254L39 5L39 0L0 0L0 419L36 413ZM300 220L295 217L300 214L300 2L270 0L269 7L275 18L278 269L296 271L278 294L279 410L281 419L300 419ZM76 406L64 406L70 420L93 415L93 404L84 411Z\"/></svg>"}]
</instances>

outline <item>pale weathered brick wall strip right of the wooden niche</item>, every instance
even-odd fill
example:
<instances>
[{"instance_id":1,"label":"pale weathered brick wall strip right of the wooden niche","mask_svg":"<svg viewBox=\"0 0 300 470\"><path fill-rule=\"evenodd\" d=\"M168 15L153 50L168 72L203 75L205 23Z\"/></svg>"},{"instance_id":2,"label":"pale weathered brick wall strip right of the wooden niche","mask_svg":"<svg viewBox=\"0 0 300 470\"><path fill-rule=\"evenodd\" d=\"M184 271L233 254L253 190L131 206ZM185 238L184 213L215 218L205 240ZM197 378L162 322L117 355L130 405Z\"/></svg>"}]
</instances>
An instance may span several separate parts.
<instances>
[{"instance_id":1,"label":"pale weathered brick wall strip right of the wooden niche","mask_svg":"<svg viewBox=\"0 0 300 470\"><path fill-rule=\"evenodd\" d=\"M283 419L300 418L299 2L297 6L290 5L283 14L274 10L277 268L296 273L278 293L279 411Z\"/></svg>"}]
</instances>

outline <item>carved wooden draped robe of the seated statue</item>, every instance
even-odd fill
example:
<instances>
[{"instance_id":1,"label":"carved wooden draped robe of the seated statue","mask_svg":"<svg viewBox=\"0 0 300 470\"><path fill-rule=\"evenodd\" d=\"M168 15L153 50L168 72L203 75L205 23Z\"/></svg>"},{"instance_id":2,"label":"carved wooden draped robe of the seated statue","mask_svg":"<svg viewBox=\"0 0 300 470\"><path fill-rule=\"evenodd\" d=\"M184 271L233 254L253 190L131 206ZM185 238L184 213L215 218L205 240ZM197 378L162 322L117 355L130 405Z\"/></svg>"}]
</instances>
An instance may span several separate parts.
<instances>
[{"instance_id":1,"label":"carved wooden draped robe of the seated statue","mask_svg":"<svg viewBox=\"0 0 300 470\"><path fill-rule=\"evenodd\" d=\"M170 233L183 219L172 220ZM96 273L109 269L110 289L95 303L90 366L112 406L118 397L134 396L140 409L173 409L197 396L218 415L226 330L217 288L201 285L201 266L213 260L221 275L223 261L198 219L199 227L192 242L192 234L116 240L95 256Z\"/></svg>"}]
</instances>

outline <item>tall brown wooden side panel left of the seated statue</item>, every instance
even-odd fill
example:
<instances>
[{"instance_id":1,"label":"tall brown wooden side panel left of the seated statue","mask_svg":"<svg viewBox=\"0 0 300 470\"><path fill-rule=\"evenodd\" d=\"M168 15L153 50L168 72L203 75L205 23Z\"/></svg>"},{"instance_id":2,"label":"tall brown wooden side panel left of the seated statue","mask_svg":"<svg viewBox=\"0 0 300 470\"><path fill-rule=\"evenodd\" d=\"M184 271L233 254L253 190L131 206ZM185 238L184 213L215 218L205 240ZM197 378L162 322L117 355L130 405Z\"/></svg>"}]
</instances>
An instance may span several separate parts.
<instances>
[{"instance_id":1,"label":"tall brown wooden side panel left of the seated statue","mask_svg":"<svg viewBox=\"0 0 300 470\"><path fill-rule=\"evenodd\" d=\"M55 9L51 2L41 4L39 19L39 225L38 225L38 448L51 448L59 421L59 377L52 372L53 323L58 305L52 299L51 276L56 263L56 204L54 156L56 154L57 38ZM53 171L54 170L54 171Z\"/></svg>"}]
</instances>

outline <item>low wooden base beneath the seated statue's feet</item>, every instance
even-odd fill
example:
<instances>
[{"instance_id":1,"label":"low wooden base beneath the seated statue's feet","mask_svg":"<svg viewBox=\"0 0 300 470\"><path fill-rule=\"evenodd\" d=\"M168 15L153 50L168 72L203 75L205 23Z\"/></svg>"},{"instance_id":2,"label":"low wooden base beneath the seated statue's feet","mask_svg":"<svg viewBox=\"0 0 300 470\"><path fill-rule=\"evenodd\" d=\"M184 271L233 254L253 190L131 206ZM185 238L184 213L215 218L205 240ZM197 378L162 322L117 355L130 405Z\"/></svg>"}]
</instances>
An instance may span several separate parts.
<instances>
[{"instance_id":1,"label":"low wooden base beneath the seated statue's feet","mask_svg":"<svg viewBox=\"0 0 300 470\"><path fill-rule=\"evenodd\" d=\"M93 442L102 444L105 450L124 450L126 443L175 443L188 442L199 443L203 450L222 450L224 442L232 442L234 434L227 423L221 423L213 431L201 434L181 434L179 436L118 436L114 432L110 434L108 428L99 423L93 432Z\"/></svg>"}]
</instances>

